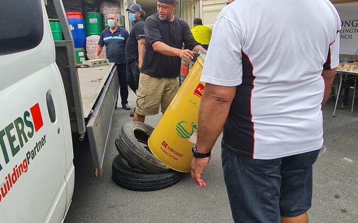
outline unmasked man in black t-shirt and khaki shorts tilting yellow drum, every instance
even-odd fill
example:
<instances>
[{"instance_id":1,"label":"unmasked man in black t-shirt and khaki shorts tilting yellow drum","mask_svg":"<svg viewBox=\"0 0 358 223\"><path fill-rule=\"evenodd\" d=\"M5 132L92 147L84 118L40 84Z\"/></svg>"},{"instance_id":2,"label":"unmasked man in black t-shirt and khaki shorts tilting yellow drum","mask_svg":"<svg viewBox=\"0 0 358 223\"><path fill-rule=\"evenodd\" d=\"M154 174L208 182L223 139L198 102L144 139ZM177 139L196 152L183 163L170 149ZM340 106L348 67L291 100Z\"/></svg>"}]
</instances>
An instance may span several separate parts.
<instances>
[{"instance_id":1,"label":"unmasked man in black t-shirt and khaki shorts tilting yellow drum","mask_svg":"<svg viewBox=\"0 0 358 223\"><path fill-rule=\"evenodd\" d=\"M145 115L164 113L179 89L181 59L206 50L195 41L188 23L175 16L177 0L158 0L158 13L149 16L144 25L146 49L137 90L134 121L144 122ZM182 44L189 50L182 50Z\"/></svg>"}]
</instances>

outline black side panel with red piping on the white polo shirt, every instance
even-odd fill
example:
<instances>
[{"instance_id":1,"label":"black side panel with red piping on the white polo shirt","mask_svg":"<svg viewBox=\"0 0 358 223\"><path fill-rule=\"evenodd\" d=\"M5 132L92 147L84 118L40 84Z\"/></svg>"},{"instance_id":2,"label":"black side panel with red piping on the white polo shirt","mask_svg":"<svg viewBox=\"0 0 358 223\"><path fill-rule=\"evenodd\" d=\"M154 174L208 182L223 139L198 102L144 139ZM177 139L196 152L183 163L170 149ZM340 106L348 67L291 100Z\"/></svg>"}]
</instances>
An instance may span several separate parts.
<instances>
[{"instance_id":1,"label":"black side panel with red piping on the white polo shirt","mask_svg":"<svg viewBox=\"0 0 358 223\"><path fill-rule=\"evenodd\" d=\"M243 51L242 53L242 84L236 87L236 94L231 104L230 113L225 123L223 140L226 146L245 157L254 157L255 126L252 121L251 99L254 90L254 67Z\"/></svg>"}]
</instances>

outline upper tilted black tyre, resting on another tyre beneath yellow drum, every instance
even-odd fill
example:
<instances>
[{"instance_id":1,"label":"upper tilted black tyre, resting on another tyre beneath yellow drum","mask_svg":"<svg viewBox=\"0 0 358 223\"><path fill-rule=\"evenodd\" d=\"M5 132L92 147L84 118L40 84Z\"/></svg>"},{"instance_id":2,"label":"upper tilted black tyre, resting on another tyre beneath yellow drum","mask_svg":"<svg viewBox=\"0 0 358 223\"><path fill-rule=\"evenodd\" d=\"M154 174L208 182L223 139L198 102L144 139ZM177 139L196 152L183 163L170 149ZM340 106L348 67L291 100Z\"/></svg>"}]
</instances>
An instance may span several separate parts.
<instances>
[{"instance_id":1,"label":"upper tilted black tyre, resting on another tyre beneath yellow drum","mask_svg":"<svg viewBox=\"0 0 358 223\"><path fill-rule=\"evenodd\" d=\"M160 173L169 170L148 148L148 138L153 127L142 122L127 122L122 125L115 140L119 154L131 167L145 173Z\"/></svg>"}]
</instances>

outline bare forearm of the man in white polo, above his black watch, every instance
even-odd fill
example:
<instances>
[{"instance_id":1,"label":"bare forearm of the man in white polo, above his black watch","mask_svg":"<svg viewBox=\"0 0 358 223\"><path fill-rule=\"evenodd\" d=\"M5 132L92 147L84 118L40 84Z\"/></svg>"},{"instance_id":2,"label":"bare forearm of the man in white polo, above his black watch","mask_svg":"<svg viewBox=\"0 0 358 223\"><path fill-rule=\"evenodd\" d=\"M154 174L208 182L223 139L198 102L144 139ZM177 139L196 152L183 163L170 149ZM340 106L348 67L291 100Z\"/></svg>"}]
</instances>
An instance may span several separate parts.
<instances>
[{"instance_id":1,"label":"bare forearm of the man in white polo, above his black watch","mask_svg":"<svg viewBox=\"0 0 358 223\"><path fill-rule=\"evenodd\" d=\"M211 151L222 132L235 93L236 87L206 84L199 111L196 142L199 153Z\"/></svg>"}]
</instances>

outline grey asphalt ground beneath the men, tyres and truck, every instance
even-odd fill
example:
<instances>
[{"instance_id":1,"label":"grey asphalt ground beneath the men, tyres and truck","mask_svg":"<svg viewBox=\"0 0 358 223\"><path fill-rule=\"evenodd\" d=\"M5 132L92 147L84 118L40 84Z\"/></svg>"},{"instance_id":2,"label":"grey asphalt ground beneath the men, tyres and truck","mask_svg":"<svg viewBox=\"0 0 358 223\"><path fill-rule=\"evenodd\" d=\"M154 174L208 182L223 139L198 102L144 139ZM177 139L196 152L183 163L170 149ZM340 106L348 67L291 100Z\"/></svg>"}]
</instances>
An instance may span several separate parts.
<instances>
[{"instance_id":1,"label":"grey asphalt ground beneath the men, tyres and truck","mask_svg":"<svg viewBox=\"0 0 358 223\"><path fill-rule=\"evenodd\" d=\"M131 92L129 104L134 107ZM311 223L358 222L358 106L350 105L332 116L334 103L324 108L325 146L314 165ZM233 222L224 185L220 140L199 188L190 174L176 185L153 192L130 191L112 180L111 166L118 154L114 140L130 111L114 111L111 134L103 162L103 176L95 178L89 146L75 146L75 192L65 223L230 223ZM148 116L155 127L161 115ZM259 204L258 204L259 205Z\"/></svg>"}]
</instances>

